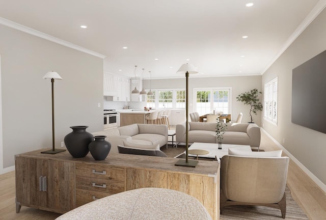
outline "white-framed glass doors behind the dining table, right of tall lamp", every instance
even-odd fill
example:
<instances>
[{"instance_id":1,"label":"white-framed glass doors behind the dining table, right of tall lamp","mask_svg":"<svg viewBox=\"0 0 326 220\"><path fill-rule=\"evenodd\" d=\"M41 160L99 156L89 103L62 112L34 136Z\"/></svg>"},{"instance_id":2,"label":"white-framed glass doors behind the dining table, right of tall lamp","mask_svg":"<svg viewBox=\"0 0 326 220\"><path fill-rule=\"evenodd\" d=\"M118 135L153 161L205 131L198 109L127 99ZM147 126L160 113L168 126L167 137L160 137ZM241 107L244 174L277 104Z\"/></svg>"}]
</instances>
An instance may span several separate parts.
<instances>
[{"instance_id":1,"label":"white-framed glass doors behind the dining table, right of tall lamp","mask_svg":"<svg viewBox=\"0 0 326 220\"><path fill-rule=\"evenodd\" d=\"M231 112L231 88L195 89L195 109L200 115Z\"/></svg>"}]
</instances>

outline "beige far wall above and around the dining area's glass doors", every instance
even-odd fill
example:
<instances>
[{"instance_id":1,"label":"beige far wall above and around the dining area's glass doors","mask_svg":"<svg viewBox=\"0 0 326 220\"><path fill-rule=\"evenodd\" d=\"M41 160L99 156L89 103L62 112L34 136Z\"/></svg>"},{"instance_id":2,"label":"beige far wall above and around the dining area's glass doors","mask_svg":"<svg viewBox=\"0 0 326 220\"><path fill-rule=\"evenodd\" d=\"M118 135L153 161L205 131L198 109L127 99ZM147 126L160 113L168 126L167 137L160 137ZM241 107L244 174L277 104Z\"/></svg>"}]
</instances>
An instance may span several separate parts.
<instances>
[{"instance_id":1,"label":"beige far wall above and around the dining area's glass doors","mask_svg":"<svg viewBox=\"0 0 326 220\"><path fill-rule=\"evenodd\" d=\"M143 80L143 87L149 89L149 80ZM189 76L189 113L195 111L193 108L193 91L194 88L205 87L231 87L232 88L232 120L236 120L239 112L243 113L242 122L247 123L250 121L249 110L250 107L244 105L241 102L236 101L236 96L242 92L250 91L257 88L261 91L261 76L246 76L246 77L212 77L212 78L200 78ZM185 78L182 79L152 79L152 89L169 89L180 88L185 89ZM262 98L262 97L261 97ZM262 100L261 100L262 101ZM261 126L261 112L253 116L254 123Z\"/></svg>"}]
</instances>

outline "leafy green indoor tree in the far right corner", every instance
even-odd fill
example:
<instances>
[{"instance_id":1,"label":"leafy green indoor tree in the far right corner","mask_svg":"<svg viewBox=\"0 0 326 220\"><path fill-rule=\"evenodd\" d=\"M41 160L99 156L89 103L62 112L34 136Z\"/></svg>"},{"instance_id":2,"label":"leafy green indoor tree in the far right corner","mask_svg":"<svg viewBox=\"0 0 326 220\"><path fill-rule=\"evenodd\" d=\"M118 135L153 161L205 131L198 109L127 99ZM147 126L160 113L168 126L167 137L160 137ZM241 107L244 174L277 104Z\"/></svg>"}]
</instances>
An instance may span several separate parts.
<instances>
[{"instance_id":1,"label":"leafy green indoor tree in the far right corner","mask_svg":"<svg viewBox=\"0 0 326 220\"><path fill-rule=\"evenodd\" d=\"M258 89L252 89L250 92L243 92L236 97L236 101L243 102L244 105L250 106L250 123L253 123L252 113L257 115L257 111L261 111L263 109L263 105L261 102L259 102L259 94L261 94L261 92L258 91Z\"/></svg>"}]
</instances>

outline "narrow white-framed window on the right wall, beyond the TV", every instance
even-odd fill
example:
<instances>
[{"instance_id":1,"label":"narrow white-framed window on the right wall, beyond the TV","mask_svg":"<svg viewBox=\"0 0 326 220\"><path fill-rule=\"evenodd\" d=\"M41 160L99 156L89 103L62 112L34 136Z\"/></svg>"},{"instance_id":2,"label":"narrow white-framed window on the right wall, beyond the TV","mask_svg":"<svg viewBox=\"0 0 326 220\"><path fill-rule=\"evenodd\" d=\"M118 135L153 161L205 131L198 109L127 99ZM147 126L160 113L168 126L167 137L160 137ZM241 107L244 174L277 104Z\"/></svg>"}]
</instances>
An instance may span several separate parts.
<instances>
[{"instance_id":1,"label":"narrow white-framed window on the right wall, beyond the TV","mask_svg":"<svg viewBox=\"0 0 326 220\"><path fill-rule=\"evenodd\" d=\"M277 124L278 78L265 84L264 118Z\"/></svg>"}]
</instances>

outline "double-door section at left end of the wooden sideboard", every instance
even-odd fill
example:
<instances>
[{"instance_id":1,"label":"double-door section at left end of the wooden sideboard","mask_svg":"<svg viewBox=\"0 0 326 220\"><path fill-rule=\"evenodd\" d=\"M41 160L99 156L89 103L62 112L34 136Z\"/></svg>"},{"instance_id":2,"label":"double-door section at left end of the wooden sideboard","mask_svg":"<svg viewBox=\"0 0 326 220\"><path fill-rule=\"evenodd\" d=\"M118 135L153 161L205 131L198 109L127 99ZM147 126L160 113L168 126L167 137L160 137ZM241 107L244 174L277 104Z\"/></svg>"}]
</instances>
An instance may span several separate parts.
<instances>
[{"instance_id":1,"label":"double-door section at left end of the wooden sideboard","mask_svg":"<svg viewBox=\"0 0 326 220\"><path fill-rule=\"evenodd\" d=\"M74 163L16 157L16 212L30 206L65 213L75 208Z\"/></svg>"}]
</instances>

